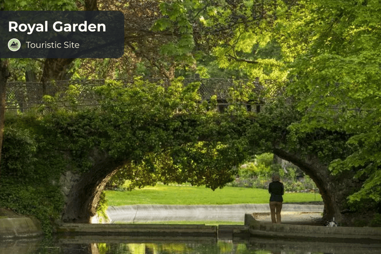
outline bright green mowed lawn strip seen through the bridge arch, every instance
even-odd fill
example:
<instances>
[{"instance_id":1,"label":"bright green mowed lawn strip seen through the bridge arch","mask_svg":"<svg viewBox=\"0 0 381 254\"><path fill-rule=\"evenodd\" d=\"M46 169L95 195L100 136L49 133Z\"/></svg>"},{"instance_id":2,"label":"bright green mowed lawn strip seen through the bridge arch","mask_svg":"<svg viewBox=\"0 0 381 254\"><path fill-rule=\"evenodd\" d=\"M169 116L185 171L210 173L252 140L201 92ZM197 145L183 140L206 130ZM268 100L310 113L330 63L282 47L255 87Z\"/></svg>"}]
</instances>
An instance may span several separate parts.
<instances>
[{"instance_id":1,"label":"bright green mowed lawn strip seen through the bridge arch","mask_svg":"<svg viewBox=\"0 0 381 254\"><path fill-rule=\"evenodd\" d=\"M224 187L212 191L205 187L158 184L133 191L105 191L109 206L134 204L261 204L268 203L267 190ZM285 193L284 202L322 201L318 193Z\"/></svg>"}]
</instances>

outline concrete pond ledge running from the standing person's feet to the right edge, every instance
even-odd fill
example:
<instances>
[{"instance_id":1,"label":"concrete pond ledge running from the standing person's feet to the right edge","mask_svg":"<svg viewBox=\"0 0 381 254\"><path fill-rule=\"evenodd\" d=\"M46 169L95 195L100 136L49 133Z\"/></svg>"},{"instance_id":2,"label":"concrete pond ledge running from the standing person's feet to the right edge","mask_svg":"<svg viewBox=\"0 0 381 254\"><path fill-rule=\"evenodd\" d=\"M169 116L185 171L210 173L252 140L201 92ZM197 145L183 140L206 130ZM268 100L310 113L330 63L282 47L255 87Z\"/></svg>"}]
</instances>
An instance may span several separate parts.
<instances>
[{"instance_id":1,"label":"concrete pond ledge running from the standing person's feet to the right edge","mask_svg":"<svg viewBox=\"0 0 381 254\"><path fill-rule=\"evenodd\" d=\"M259 222L251 214L245 214L245 225L249 226L249 233L254 237L381 241L381 228L273 224L270 222Z\"/></svg>"}]
</instances>

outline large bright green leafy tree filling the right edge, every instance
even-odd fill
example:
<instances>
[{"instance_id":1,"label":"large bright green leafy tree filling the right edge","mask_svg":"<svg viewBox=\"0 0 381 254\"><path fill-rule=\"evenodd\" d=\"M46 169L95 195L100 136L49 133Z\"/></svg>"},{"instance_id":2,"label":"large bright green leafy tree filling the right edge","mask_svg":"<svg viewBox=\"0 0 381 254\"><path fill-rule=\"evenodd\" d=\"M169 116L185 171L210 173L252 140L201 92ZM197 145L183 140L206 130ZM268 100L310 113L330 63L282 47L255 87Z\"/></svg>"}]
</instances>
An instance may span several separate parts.
<instances>
[{"instance_id":1,"label":"large bright green leafy tree filling the right edge","mask_svg":"<svg viewBox=\"0 0 381 254\"><path fill-rule=\"evenodd\" d=\"M308 15L296 18L308 34L290 75L289 93L306 112L293 131L318 128L347 133L352 152L333 160L333 174L355 172L365 181L349 196L356 203L381 202L380 67L381 6L375 0L307 1ZM306 12L307 12L306 11Z\"/></svg>"}]
</instances>

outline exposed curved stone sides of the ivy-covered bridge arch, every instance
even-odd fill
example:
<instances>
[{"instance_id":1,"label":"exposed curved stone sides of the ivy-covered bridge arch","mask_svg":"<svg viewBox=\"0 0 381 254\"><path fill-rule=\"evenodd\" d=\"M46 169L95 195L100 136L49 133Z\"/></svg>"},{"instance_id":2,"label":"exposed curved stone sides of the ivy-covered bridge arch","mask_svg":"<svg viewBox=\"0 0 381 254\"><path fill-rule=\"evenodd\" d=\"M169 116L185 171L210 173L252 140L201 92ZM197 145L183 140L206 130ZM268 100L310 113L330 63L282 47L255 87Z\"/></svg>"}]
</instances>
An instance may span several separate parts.
<instances>
[{"instance_id":1,"label":"exposed curved stone sides of the ivy-covered bridge arch","mask_svg":"<svg viewBox=\"0 0 381 254\"><path fill-rule=\"evenodd\" d=\"M300 158L279 148L274 148L271 152L298 166L316 183L324 201L325 219L335 217L336 221L341 220L340 204L345 195L337 190L345 186L348 181L344 181L345 179L341 179L341 183L336 181L329 174L327 166L321 164L314 155ZM107 181L126 164L126 160L103 156L94 163L91 170L78 176L68 192L62 220L70 223L90 223L91 218L96 215L97 203Z\"/></svg>"}]
</instances>

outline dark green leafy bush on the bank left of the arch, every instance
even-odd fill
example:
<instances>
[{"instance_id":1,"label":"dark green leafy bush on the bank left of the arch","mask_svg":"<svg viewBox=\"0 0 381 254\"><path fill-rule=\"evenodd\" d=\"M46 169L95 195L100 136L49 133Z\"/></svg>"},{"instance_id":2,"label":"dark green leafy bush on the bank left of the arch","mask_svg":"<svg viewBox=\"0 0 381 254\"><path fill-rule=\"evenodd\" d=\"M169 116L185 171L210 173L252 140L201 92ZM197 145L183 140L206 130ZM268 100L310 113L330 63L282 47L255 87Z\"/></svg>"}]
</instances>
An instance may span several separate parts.
<instances>
[{"instance_id":1,"label":"dark green leafy bush on the bank left of the arch","mask_svg":"<svg viewBox=\"0 0 381 254\"><path fill-rule=\"evenodd\" d=\"M33 215L46 235L64 205L58 183L66 164L57 139L37 117L7 119L1 150L0 207Z\"/></svg>"}]
</instances>

